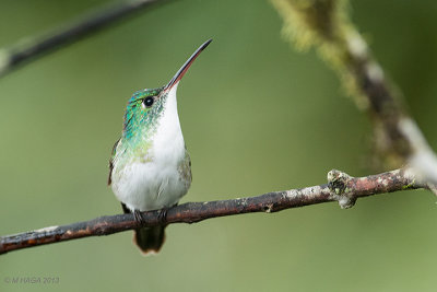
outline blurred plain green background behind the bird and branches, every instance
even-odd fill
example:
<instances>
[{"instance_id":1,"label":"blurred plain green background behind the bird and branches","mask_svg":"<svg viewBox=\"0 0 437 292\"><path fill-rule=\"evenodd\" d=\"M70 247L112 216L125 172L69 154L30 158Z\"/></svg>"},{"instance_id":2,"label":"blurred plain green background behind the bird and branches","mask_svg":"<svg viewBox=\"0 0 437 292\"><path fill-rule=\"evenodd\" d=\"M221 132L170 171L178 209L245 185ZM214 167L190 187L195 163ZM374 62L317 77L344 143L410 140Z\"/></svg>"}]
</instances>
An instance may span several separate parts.
<instances>
[{"instance_id":1,"label":"blurred plain green background behind the bird and branches","mask_svg":"<svg viewBox=\"0 0 437 292\"><path fill-rule=\"evenodd\" d=\"M0 47L106 1L0 0ZM437 149L437 2L352 1L352 19ZM314 51L281 37L268 1L174 1L0 80L0 234L120 213L106 186L131 93L166 83L214 42L178 91L192 159L185 201L367 175L371 125ZM430 192L174 224L158 256L131 232L1 256L0 291L435 291ZM59 284L7 284L59 277Z\"/></svg>"}]
</instances>

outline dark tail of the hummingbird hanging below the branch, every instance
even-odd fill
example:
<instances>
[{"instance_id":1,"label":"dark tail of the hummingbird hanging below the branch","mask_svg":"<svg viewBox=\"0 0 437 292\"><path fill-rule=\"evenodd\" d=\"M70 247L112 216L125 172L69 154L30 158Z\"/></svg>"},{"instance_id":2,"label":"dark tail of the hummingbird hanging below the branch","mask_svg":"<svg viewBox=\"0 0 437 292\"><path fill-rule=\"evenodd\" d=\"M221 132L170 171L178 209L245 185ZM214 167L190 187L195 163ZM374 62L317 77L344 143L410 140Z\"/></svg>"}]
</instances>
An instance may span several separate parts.
<instances>
[{"instance_id":1,"label":"dark tail of the hummingbird hanging below the branch","mask_svg":"<svg viewBox=\"0 0 437 292\"><path fill-rule=\"evenodd\" d=\"M133 242L144 255L156 254L165 241L165 226L141 227L134 231Z\"/></svg>"}]
</instances>

